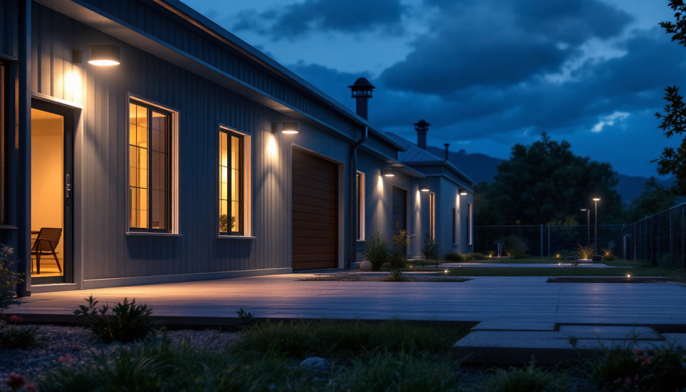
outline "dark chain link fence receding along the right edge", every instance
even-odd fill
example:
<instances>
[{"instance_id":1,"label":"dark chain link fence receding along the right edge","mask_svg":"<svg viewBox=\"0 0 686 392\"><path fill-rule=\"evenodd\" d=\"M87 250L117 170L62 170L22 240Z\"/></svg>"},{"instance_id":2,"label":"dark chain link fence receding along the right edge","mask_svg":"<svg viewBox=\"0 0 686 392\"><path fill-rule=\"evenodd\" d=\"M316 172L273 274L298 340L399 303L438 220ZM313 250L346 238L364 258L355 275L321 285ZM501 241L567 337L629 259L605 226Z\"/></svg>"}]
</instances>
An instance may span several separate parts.
<instances>
[{"instance_id":1,"label":"dark chain link fence receding along the right edge","mask_svg":"<svg viewBox=\"0 0 686 392\"><path fill-rule=\"evenodd\" d=\"M684 270L686 203L624 227L626 258Z\"/></svg>"}]
</instances>

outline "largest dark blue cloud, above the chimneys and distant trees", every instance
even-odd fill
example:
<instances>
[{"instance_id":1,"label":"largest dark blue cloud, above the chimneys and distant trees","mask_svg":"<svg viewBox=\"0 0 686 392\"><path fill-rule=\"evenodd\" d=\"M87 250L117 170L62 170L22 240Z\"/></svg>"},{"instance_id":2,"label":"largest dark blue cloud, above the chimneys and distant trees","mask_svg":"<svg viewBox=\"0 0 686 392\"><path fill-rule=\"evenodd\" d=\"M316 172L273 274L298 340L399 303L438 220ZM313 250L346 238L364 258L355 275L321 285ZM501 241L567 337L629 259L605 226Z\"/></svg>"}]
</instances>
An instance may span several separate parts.
<instances>
[{"instance_id":1,"label":"largest dark blue cloud, above the chimneys and distant trees","mask_svg":"<svg viewBox=\"0 0 686 392\"><path fill-rule=\"evenodd\" d=\"M431 30L381 79L393 89L450 95L505 88L556 73L589 38L620 34L631 20L598 0L445 2Z\"/></svg>"}]
</instances>

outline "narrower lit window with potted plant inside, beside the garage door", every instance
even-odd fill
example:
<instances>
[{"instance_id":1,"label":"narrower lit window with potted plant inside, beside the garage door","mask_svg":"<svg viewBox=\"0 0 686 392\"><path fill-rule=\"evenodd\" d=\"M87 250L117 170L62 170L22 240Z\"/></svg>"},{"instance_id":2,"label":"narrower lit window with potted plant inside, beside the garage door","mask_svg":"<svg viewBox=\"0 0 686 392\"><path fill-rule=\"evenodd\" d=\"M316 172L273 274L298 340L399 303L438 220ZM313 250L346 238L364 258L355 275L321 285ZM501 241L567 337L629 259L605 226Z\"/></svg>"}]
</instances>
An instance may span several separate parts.
<instances>
[{"instance_id":1,"label":"narrower lit window with potted plant inside, beside the garage door","mask_svg":"<svg viewBox=\"0 0 686 392\"><path fill-rule=\"evenodd\" d=\"M234 132L219 132L219 231L241 235L244 231L243 162L244 138Z\"/></svg>"}]
</instances>

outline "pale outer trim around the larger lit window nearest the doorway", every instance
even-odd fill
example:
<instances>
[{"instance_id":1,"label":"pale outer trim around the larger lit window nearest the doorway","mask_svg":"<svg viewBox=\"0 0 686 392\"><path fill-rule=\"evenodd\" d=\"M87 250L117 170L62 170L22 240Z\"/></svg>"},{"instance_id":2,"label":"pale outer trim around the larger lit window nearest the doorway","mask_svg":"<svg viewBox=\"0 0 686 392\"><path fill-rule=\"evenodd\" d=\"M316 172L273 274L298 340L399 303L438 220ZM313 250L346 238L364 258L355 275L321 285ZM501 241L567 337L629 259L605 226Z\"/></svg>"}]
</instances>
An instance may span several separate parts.
<instances>
[{"instance_id":1,"label":"pale outer trim around the larger lit window nearest the doorway","mask_svg":"<svg viewBox=\"0 0 686 392\"><path fill-rule=\"evenodd\" d=\"M131 200L130 198L130 178L129 178L129 163L130 163L130 158L129 158L129 119L130 119L130 114L129 114L129 108L131 104L131 99L143 102L143 104L149 105L149 106L154 106L156 108L160 108L163 111L169 113L171 115L171 162L169 165L169 168L171 169L171 187L170 187L170 192L171 192L171 227L169 228L169 233L154 233L154 234L162 234L162 235L180 235L179 234L179 224L178 224L178 192L179 192L179 185L178 185L178 157L179 157L179 146L178 146L178 135L179 135L179 129L178 129L178 124L179 124L179 110L177 108L173 108L171 106L166 106L164 104L161 104L159 102L147 100L144 97L141 97L136 94L132 93L126 93L126 106L124 109L125 112L125 122L126 122L126 130L124 131L124 135L126 135L126 197L124 198L124 203L126 205L124 206L124 211L126 211L126 235L134 235L130 234L133 233L131 230L130 226L130 206L131 206ZM149 184L150 185L150 184ZM150 222L148 222L150 224ZM143 231L142 233L150 233L147 231Z\"/></svg>"}]
</instances>

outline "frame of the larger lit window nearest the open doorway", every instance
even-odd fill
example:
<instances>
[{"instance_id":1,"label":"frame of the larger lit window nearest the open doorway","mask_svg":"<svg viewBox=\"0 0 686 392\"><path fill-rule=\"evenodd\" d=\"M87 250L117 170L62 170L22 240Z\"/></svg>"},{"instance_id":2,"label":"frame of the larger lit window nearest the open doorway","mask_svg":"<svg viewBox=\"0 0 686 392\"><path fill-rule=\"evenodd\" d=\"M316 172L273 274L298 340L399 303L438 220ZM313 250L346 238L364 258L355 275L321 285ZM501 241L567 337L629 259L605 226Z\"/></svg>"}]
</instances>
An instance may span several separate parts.
<instances>
[{"instance_id":1,"label":"frame of the larger lit window nearest the open doorway","mask_svg":"<svg viewBox=\"0 0 686 392\"><path fill-rule=\"evenodd\" d=\"M131 227L130 105L147 108L147 228ZM167 229L152 228L152 111L167 117ZM128 235L178 235L178 111L133 94L126 100L126 233Z\"/></svg>"}]
</instances>

